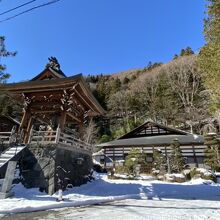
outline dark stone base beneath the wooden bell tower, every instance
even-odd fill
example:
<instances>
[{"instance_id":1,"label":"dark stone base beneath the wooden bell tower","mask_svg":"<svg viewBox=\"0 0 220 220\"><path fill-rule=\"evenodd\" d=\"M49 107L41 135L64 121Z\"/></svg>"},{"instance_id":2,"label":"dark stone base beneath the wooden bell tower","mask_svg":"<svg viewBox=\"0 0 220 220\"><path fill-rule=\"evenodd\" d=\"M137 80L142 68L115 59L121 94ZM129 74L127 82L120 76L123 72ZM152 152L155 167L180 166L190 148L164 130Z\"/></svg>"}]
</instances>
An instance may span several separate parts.
<instances>
[{"instance_id":1,"label":"dark stone base beneath the wooden bell tower","mask_svg":"<svg viewBox=\"0 0 220 220\"><path fill-rule=\"evenodd\" d=\"M20 161L23 184L49 194L85 183L91 168L91 155L56 145L29 146Z\"/></svg>"}]
</instances>

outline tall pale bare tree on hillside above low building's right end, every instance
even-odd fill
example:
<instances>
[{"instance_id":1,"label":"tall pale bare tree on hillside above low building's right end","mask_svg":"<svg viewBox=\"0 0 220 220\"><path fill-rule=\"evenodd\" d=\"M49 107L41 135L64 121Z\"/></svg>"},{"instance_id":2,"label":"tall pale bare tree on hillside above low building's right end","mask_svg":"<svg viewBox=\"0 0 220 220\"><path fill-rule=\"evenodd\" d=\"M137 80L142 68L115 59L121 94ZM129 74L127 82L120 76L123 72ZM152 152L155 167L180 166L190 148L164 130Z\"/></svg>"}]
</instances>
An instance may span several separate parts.
<instances>
[{"instance_id":1,"label":"tall pale bare tree on hillside above low building's right end","mask_svg":"<svg viewBox=\"0 0 220 220\"><path fill-rule=\"evenodd\" d=\"M196 64L196 56L184 56L166 65L168 82L182 105L185 123L193 132L194 125L207 115L202 103L202 81Z\"/></svg>"}]
</instances>

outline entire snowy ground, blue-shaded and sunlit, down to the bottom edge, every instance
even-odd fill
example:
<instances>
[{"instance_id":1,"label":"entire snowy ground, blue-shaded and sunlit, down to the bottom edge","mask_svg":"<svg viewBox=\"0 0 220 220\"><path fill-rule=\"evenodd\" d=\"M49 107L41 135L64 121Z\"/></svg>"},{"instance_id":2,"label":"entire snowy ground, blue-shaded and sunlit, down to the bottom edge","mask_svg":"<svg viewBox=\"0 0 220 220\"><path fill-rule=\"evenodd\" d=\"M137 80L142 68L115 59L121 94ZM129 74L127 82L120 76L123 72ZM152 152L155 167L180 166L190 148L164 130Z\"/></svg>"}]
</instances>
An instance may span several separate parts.
<instances>
[{"instance_id":1,"label":"entire snowy ground, blue-shaded and sunlit, down to the bottom edge","mask_svg":"<svg viewBox=\"0 0 220 220\"><path fill-rule=\"evenodd\" d=\"M63 202L56 202L56 195L21 185L14 191L14 198L1 200L2 216L66 207L34 219L220 219L220 185L203 184L201 180L177 184L100 176L66 191ZM102 205L90 206L95 204ZM83 208L76 208L79 206Z\"/></svg>"}]
</instances>

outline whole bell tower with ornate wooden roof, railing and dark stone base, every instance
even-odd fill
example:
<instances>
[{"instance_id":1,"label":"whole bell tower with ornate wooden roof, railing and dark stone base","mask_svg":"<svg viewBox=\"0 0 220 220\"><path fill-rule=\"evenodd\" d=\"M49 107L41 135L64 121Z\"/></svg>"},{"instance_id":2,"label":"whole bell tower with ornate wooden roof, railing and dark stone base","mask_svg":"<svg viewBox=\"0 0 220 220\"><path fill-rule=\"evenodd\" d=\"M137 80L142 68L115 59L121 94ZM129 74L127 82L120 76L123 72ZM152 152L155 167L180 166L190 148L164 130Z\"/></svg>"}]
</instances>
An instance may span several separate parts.
<instances>
[{"instance_id":1,"label":"whole bell tower with ornate wooden roof, railing and dark stone base","mask_svg":"<svg viewBox=\"0 0 220 220\"><path fill-rule=\"evenodd\" d=\"M92 166L92 146L82 141L84 127L104 110L83 76L66 77L57 59L51 57L32 80L1 84L0 90L23 105L14 145L23 146L16 154L20 153L18 163L25 184L52 194L60 185L86 181ZM3 156L0 172L9 161Z\"/></svg>"}]
</instances>

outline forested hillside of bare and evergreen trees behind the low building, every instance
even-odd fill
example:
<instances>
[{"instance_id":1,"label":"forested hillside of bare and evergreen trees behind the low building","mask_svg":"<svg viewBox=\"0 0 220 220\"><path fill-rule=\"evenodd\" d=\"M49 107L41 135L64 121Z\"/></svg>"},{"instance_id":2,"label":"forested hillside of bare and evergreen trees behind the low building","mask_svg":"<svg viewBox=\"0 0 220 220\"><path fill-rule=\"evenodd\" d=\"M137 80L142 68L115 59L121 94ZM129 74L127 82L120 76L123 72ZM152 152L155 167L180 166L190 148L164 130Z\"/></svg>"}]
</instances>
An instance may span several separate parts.
<instances>
[{"instance_id":1,"label":"forested hillside of bare and evergreen trees behind the low building","mask_svg":"<svg viewBox=\"0 0 220 220\"><path fill-rule=\"evenodd\" d=\"M195 133L218 130L211 115L210 93L198 68L198 55L190 47L167 64L113 75L88 76L86 81L107 110L99 141L117 138L146 120ZM104 126L103 126L104 124Z\"/></svg>"}]
</instances>

